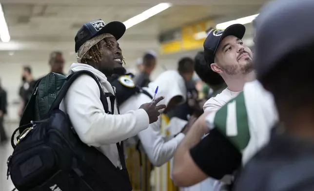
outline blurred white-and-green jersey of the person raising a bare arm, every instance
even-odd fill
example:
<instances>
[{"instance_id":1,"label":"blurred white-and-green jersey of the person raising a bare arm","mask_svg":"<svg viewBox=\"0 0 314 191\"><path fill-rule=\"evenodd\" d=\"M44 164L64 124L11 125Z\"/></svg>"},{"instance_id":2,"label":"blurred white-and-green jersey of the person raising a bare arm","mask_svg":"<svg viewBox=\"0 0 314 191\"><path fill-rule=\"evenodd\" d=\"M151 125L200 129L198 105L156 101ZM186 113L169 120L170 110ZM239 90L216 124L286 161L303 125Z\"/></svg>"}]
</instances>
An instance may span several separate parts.
<instances>
[{"instance_id":1,"label":"blurred white-and-green jersey of the person raising a bare arm","mask_svg":"<svg viewBox=\"0 0 314 191\"><path fill-rule=\"evenodd\" d=\"M244 85L243 93L205 119L209 128L219 130L242 152L245 165L270 138L278 121L273 95L257 81Z\"/></svg>"}]
</instances>

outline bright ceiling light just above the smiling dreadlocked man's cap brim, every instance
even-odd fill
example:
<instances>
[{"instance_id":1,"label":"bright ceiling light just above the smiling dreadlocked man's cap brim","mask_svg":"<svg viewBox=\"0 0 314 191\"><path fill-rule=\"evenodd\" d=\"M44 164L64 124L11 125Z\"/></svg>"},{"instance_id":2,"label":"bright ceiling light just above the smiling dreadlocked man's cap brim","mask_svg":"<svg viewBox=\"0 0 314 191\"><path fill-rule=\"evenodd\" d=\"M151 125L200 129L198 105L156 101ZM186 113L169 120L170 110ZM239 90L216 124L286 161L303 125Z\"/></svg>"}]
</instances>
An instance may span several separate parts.
<instances>
[{"instance_id":1,"label":"bright ceiling light just above the smiling dreadlocked man's cap brim","mask_svg":"<svg viewBox=\"0 0 314 191\"><path fill-rule=\"evenodd\" d=\"M169 7L171 7L171 3L159 3L156 6L147 9L146 11L144 11L143 13L138 14L135 17L132 17L131 19L128 19L126 21L123 22L123 24L125 25L125 27L128 29L150 17L153 17L154 15L168 9Z\"/></svg>"}]
</instances>

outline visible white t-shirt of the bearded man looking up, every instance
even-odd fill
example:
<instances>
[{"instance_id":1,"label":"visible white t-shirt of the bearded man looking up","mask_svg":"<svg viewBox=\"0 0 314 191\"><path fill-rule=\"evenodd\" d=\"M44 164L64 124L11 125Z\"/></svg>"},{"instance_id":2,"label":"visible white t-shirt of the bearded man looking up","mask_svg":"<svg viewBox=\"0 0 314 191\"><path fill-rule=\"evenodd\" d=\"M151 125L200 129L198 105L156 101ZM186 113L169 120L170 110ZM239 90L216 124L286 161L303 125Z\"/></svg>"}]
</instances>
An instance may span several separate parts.
<instances>
[{"instance_id":1,"label":"visible white t-shirt of the bearded man looking up","mask_svg":"<svg viewBox=\"0 0 314 191\"><path fill-rule=\"evenodd\" d=\"M228 88L224 89L220 94L216 97L211 97L208 99L204 106L204 112L214 112L219 110L223 105L225 105L228 101L235 98L240 92L230 91Z\"/></svg>"}]
</instances>

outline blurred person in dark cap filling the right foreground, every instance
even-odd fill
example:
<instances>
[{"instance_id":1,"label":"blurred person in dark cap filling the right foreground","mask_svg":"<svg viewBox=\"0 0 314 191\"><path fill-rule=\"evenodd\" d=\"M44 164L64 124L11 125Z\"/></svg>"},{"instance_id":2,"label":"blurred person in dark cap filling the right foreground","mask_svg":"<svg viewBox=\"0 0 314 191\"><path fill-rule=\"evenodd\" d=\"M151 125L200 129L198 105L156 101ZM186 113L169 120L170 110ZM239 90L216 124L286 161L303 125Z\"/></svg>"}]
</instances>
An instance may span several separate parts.
<instances>
[{"instance_id":1,"label":"blurred person in dark cap filling the right foreground","mask_svg":"<svg viewBox=\"0 0 314 191\"><path fill-rule=\"evenodd\" d=\"M257 79L274 95L280 123L236 191L314 190L313 10L313 0L276 0L256 18Z\"/></svg>"}]
</instances>

